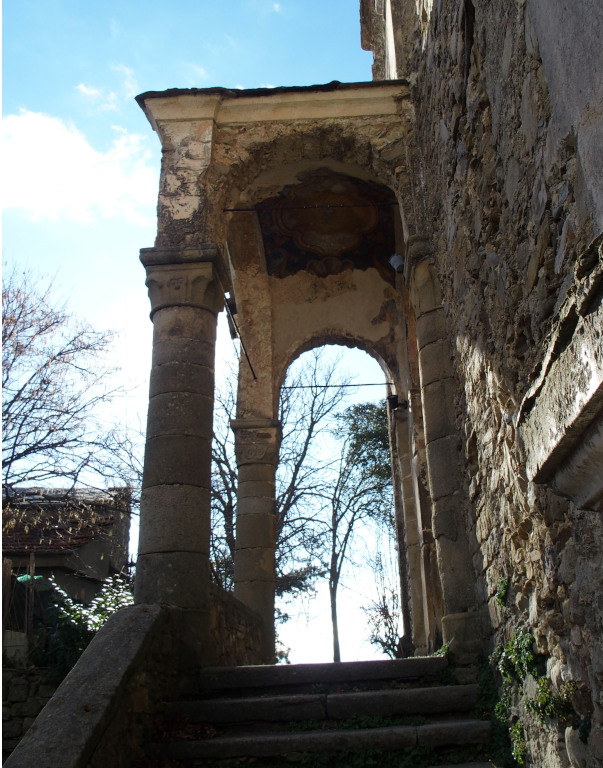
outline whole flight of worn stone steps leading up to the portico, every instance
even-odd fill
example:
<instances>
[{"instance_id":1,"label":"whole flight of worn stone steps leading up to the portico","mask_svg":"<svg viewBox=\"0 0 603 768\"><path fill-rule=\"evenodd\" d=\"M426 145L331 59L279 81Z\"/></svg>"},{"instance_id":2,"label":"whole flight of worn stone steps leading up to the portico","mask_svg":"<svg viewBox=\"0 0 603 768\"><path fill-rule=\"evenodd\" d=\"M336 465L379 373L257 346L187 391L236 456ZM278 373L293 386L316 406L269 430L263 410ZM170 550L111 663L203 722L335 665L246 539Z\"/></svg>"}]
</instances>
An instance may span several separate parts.
<instances>
[{"instance_id":1,"label":"whole flight of worn stone steps leading up to the portico","mask_svg":"<svg viewBox=\"0 0 603 768\"><path fill-rule=\"evenodd\" d=\"M478 686L451 678L444 657L207 668L167 706L139 765L459 765L467 748L481 757L490 723L472 715Z\"/></svg>"}]
</instances>

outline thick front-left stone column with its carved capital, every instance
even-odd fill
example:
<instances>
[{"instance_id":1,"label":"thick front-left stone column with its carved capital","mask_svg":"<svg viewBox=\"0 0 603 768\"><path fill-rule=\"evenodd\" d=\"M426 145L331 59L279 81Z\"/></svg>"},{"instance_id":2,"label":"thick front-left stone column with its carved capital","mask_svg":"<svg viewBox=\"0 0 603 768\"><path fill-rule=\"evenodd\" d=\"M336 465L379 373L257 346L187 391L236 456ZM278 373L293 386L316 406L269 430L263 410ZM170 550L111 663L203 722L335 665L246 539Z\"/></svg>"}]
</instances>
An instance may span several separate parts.
<instances>
[{"instance_id":1,"label":"thick front-left stone column with its carved capital","mask_svg":"<svg viewBox=\"0 0 603 768\"><path fill-rule=\"evenodd\" d=\"M153 320L135 599L180 609L182 661L207 647L217 248L145 248Z\"/></svg>"}]
</instances>

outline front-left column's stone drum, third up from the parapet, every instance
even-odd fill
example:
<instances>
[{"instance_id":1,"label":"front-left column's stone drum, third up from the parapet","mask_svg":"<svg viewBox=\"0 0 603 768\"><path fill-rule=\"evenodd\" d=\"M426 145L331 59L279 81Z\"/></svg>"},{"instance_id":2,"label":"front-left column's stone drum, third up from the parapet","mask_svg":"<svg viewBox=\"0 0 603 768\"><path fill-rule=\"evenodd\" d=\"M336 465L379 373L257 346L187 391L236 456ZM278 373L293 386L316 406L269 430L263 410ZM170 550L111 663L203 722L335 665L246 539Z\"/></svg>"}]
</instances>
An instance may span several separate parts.
<instances>
[{"instance_id":1,"label":"front-left column's stone drum, third up from the parapet","mask_svg":"<svg viewBox=\"0 0 603 768\"><path fill-rule=\"evenodd\" d=\"M209 488L211 441L193 435L161 435L147 440L143 488L194 485Z\"/></svg>"}]
</instances>

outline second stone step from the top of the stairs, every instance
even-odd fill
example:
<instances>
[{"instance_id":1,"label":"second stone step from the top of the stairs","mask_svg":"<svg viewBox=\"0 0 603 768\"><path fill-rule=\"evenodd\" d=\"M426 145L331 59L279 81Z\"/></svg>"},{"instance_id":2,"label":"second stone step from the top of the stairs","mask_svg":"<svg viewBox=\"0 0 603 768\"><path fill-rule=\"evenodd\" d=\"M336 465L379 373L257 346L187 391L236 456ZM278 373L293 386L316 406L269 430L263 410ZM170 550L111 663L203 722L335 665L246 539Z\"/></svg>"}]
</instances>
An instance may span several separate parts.
<instances>
[{"instance_id":1,"label":"second stone step from the top of the stairs","mask_svg":"<svg viewBox=\"0 0 603 768\"><path fill-rule=\"evenodd\" d=\"M252 696L181 701L166 709L167 718L224 725L244 722L342 720L354 716L438 715L468 712L479 697L477 685L448 685L348 693Z\"/></svg>"}]
</instances>

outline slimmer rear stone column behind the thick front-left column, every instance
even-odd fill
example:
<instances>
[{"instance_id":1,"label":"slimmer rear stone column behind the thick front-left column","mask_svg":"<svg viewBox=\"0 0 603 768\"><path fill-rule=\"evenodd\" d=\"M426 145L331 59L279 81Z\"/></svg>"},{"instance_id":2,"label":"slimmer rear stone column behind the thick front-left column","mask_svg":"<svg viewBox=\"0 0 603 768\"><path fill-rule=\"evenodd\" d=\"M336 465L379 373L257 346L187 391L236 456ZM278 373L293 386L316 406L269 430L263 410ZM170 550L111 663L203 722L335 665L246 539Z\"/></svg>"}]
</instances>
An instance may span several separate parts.
<instances>
[{"instance_id":1,"label":"slimmer rear stone column behind the thick front-left column","mask_svg":"<svg viewBox=\"0 0 603 768\"><path fill-rule=\"evenodd\" d=\"M272 419L235 419L239 473L235 597L263 620L262 661L273 664L275 584L275 474L281 425Z\"/></svg>"}]
</instances>

